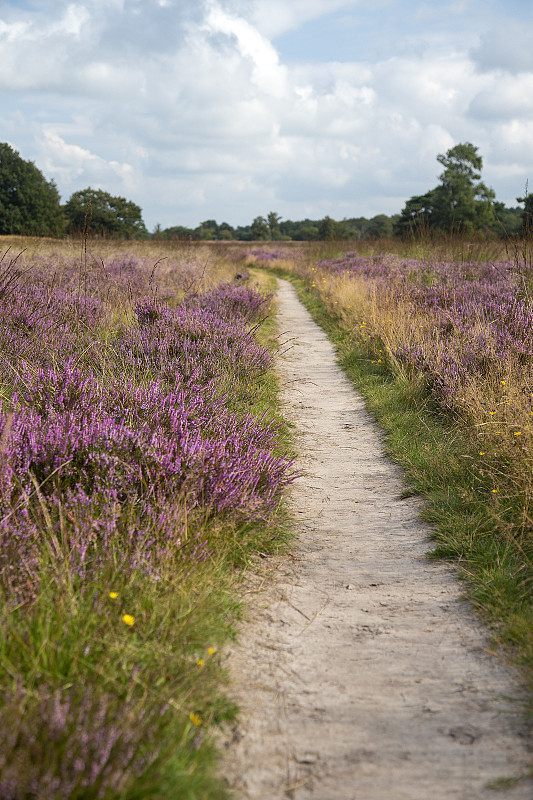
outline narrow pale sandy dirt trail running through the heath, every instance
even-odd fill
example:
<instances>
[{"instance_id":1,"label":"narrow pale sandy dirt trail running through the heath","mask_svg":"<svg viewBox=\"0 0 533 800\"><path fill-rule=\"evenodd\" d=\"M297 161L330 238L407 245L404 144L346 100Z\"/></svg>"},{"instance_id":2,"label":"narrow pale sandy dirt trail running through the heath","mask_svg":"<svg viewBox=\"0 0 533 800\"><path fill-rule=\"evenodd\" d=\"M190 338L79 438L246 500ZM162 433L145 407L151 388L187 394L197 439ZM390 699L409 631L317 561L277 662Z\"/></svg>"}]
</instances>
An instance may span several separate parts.
<instances>
[{"instance_id":1,"label":"narrow pale sandy dirt trail running through the heath","mask_svg":"<svg viewBox=\"0 0 533 800\"><path fill-rule=\"evenodd\" d=\"M229 785L250 800L531 800L530 779L500 780L532 757L511 671L485 651L455 571L425 558L417 501L400 499L379 430L285 281L279 307L301 536L229 655L242 708Z\"/></svg>"}]
</instances>

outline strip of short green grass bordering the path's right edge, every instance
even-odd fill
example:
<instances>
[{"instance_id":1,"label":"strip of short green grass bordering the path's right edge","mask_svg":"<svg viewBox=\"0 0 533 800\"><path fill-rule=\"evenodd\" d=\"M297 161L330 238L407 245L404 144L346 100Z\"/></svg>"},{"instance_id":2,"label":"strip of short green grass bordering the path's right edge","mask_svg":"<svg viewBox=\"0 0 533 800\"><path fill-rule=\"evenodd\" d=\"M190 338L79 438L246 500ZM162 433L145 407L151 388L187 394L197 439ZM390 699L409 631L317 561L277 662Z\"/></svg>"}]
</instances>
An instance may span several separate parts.
<instances>
[{"instance_id":1,"label":"strip of short green grass bordering the path's right edge","mask_svg":"<svg viewBox=\"0 0 533 800\"><path fill-rule=\"evenodd\" d=\"M506 504L490 495L490 479L478 466L479 444L460 420L433 406L419 378L378 365L369 345L357 341L304 281L279 274L293 283L327 333L340 366L386 432L386 451L404 470L404 496L425 501L422 513L433 525L436 543L431 557L457 563L494 644L505 648L529 687L533 712L533 547L516 534L512 500Z\"/></svg>"}]
</instances>

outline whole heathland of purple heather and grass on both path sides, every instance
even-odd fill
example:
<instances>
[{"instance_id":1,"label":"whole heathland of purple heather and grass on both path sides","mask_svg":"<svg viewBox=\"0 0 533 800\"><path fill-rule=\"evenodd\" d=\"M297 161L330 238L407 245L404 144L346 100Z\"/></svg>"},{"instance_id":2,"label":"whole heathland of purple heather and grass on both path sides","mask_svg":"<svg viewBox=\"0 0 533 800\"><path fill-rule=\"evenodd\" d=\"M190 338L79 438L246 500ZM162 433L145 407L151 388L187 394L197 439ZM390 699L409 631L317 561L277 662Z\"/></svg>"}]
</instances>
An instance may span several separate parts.
<instances>
[{"instance_id":1,"label":"whole heathland of purple heather and grass on both path sides","mask_svg":"<svg viewBox=\"0 0 533 800\"><path fill-rule=\"evenodd\" d=\"M533 683L527 248L3 252L3 798L226 796L211 769L210 730L235 713L220 648L242 568L287 546L295 476L276 410L275 273L336 344L405 494L425 499L436 554L457 560Z\"/></svg>"}]
</instances>

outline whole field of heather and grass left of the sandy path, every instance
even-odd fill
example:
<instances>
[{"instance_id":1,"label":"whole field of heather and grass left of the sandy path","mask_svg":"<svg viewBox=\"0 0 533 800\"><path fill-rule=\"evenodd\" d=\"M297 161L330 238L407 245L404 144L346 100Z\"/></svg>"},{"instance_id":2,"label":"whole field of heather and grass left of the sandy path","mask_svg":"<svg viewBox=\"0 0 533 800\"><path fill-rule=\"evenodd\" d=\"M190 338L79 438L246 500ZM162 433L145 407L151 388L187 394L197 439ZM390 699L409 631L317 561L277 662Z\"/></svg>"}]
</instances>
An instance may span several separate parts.
<instances>
[{"instance_id":1,"label":"whole field of heather and grass left of the sandy path","mask_svg":"<svg viewBox=\"0 0 533 800\"><path fill-rule=\"evenodd\" d=\"M220 646L293 472L270 295L202 248L4 244L0 795L224 797Z\"/></svg>"}]
</instances>

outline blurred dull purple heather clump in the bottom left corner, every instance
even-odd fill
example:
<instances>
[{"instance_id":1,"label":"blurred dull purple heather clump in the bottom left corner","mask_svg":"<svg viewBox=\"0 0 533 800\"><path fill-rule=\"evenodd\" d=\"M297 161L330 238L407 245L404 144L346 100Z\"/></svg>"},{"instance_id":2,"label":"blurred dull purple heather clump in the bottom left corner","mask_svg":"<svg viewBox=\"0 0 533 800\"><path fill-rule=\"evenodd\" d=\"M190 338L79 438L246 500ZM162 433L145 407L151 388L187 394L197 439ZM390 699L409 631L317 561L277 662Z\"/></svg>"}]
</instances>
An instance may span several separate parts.
<instances>
[{"instance_id":1,"label":"blurred dull purple heather clump in the bottom left corner","mask_svg":"<svg viewBox=\"0 0 533 800\"><path fill-rule=\"evenodd\" d=\"M33 697L19 689L4 698L4 800L118 797L132 777L157 761L154 725L145 712L93 689L40 689Z\"/></svg>"}]
</instances>

